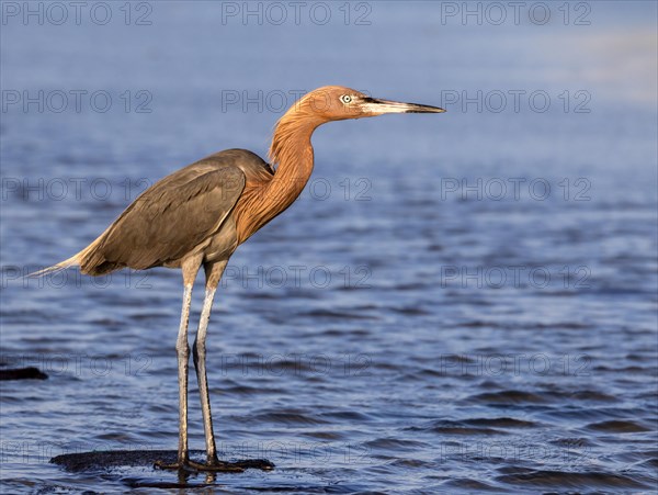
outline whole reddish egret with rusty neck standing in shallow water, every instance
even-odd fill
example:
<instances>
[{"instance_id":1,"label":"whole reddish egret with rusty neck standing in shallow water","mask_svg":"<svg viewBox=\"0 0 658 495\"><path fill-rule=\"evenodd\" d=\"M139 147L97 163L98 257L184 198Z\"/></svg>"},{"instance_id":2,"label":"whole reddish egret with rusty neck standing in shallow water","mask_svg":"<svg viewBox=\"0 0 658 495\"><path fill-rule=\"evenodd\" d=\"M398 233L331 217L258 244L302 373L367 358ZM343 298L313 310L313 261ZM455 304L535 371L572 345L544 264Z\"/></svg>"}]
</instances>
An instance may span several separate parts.
<instances>
[{"instance_id":1,"label":"whole reddish egret with rusty neck standing in shallow water","mask_svg":"<svg viewBox=\"0 0 658 495\"><path fill-rule=\"evenodd\" d=\"M443 109L370 98L339 86L316 89L277 122L270 147L271 165L246 149L227 149L182 168L139 195L101 236L73 257L37 274L79 266L102 275L122 268L180 268L183 308L175 350L179 378L179 449L171 469L230 470L217 459L206 379L205 339L215 290L228 259L259 228L286 210L302 193L314 166L310 136L327 122L385 113L441 113ZM193 346L205 430L207 461L188 452L188 320L192 285L205 271L205 300Z\"/></svg>"}]
</instances>

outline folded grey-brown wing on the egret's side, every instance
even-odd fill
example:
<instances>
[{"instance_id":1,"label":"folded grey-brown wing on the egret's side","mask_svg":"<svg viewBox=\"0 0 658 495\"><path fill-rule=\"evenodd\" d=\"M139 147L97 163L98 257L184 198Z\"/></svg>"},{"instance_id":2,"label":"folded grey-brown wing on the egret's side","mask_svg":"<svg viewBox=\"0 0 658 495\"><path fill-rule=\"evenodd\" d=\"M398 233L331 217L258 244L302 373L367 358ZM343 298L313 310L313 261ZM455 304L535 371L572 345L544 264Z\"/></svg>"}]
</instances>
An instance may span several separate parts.
<instances>
[{"instance_id":1,"label":"folded grey-brown wing on the egret's side","mask_svg":"<svg viewBox=\"0 0 658 495\"><path fill-rule=\"evenodd\" d=\"M83 273L144 270L180 260L215 234L242 190L245 172L212 156L156 182L83 251Z\"/></svg>"}]
</instances>

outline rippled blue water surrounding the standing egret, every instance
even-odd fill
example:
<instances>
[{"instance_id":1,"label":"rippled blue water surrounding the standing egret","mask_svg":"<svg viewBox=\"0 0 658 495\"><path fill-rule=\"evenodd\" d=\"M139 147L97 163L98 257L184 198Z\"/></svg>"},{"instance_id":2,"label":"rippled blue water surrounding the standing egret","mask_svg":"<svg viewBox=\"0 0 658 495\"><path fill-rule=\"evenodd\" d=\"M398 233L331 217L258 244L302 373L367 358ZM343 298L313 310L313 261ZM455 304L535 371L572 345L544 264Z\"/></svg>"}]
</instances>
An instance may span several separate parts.
<instances>
[{"instance_id":1,"label":"rippled blue water surrounding the standing egret","mask_svg":"<svg viewBox=\"0 0 658 495\"><path fill-rule=\"evenodd\" d=\"M104 26L2 25L3 102L113 99L2 110L2 363L49 375L2 382L4 493L655 490L656 5L495 26L442 23L441 3L364 3L370 25L338 4L326 25L223 22L222 2L150 2L149 26L118 3ZM208 337L218 448L276 469L172 488L148 465L50 464L175 448L180 273L19 275L182 165L263 156L276 99L327 83L449 112L320 128L298 202L231 259ZM480 111L454 102L478 90Z\"/></svg>"}]
</instances>

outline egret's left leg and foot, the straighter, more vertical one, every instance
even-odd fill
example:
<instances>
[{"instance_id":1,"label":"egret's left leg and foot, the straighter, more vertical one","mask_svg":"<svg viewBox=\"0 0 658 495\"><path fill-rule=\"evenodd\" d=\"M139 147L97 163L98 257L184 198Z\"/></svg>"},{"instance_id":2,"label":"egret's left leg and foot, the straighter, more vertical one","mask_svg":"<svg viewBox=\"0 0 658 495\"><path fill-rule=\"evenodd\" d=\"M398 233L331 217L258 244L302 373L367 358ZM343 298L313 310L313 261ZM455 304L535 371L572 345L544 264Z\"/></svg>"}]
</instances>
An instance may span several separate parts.
<instances>
[{"instance_id":1,"label":"egret's left leg and foot, the straighter, more vertical one","mask_svg":"<svg viewBox=\"0 0 658 495\"><path fill-rule=\"evenodd\" d=\"M190 363L190 346L188 344L188 322L190 320L190 305L192 304L192 282L185 283L183 292L183 307L181 310L181 325L175 351L179 368L179 449L175 464L166 464L157 461L156 465L162 469L184 469L190 463L188 452L188 370Z\"/></svg>"}]
</instances>

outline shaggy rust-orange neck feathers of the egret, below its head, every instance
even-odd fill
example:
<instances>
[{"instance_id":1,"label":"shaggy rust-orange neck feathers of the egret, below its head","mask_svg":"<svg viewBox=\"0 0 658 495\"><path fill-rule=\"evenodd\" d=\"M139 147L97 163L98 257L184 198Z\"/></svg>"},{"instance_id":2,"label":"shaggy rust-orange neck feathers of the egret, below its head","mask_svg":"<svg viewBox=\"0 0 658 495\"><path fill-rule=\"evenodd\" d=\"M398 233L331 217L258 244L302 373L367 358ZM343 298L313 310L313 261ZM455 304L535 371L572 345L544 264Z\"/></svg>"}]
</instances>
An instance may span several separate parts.
<instances>
[{"instance_id":1,"label":"shaggy rust-orange neck feathers of the egret, below its head","mask_svg":"<svg viewBox=\"0 0 658 495\"><path fill-rule=\"evenodd\" d=\"M274 177L250 182L236 205L238 239L247 240L299 196L313 172L310 136L325 121L302 99L276 123L270 161Z\"/></svg>"}]
</instances>

